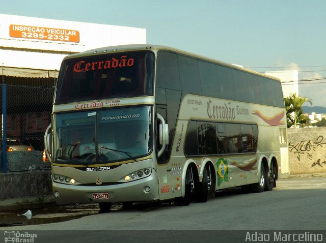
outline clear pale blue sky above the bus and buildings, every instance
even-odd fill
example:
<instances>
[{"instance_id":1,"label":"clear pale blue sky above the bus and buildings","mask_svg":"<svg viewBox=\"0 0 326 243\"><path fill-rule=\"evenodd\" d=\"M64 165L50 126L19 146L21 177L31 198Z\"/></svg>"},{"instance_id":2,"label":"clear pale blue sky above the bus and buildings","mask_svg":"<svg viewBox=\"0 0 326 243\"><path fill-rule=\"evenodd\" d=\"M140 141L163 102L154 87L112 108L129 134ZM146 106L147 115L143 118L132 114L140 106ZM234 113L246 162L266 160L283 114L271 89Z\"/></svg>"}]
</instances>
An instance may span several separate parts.
<instances>
[{"instance_id":1,"label":"clear pale blue sky above the bus and buildings","mask_svg":"<svg viewBox=\"0 0 326 243\"><path fill-rule=\"evenodd\" d=\"M146 28L148 44L262 73L295 69L299 96L326 107L324 0L0 0L0 6L2 14Z\"/></svg>"}]
</instances>

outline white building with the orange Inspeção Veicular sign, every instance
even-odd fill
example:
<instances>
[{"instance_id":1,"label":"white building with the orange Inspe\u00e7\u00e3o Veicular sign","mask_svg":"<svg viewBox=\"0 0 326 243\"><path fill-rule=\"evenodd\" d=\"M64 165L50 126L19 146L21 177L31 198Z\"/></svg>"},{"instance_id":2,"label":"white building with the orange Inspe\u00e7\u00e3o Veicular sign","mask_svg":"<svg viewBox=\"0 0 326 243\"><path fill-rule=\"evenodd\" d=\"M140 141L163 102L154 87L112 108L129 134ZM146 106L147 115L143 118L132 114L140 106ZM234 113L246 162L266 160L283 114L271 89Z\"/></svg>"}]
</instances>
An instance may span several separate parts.
<instances>
[{"instance_id":1,"label":"white building with the orange Inspe\u00e7\u00e3o Veicular sign","mask_svg":"<svg viewBox=\"0 0 326 243\"><path fill-rule=\"evenodd\" d=\"M0 75L46 77L68 54L145 43L145 28L0 14Z\"/></svg>"}]
</instances>

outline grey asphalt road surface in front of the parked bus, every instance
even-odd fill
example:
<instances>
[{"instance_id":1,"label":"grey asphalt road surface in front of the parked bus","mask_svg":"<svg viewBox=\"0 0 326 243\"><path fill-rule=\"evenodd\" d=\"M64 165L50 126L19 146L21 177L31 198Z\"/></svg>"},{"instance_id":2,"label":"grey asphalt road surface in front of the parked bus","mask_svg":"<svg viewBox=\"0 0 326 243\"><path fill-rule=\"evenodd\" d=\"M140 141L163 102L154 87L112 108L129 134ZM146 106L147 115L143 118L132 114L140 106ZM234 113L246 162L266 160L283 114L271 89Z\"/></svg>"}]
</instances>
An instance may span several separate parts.
<instances>
[{"instance_id":1,"label":"grey asphalt road surface in front of the parked bus","mask_svg":"<svg viewBox=\"0 0 326 243\"><path fill-rule=\"evenodd\" d=\"M48 236L53 236L56 242L77 242L82 235L90 242L119 242L119 239L122 242L129 237L135 242L139 239L149 239L146 242L154 239L155 242L170 242L172 239L201 242L205 237L208 237L205 241L219 237L220 240L242 242L248 231L314 232L325 229L326 177L282 179L277 186L275 190L263 193L242 194L239 189L218 192L206 203L194 202L189 206L136 204L130 210L113 210L66 222L1 230L41 230L37 231L39 238L34 242ZM323 234L322 240L326 240L326 232Z\"/></svg>"}]
</instances>

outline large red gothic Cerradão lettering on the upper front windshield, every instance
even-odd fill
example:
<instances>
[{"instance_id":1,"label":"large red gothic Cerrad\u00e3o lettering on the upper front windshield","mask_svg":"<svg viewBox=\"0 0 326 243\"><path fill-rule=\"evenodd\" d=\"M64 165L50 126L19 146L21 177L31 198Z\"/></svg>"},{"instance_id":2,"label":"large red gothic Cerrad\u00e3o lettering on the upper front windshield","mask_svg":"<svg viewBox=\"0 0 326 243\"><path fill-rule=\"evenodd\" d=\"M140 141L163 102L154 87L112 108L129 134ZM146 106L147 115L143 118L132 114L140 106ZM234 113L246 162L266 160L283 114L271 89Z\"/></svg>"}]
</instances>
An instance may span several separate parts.
<instances>
[{"instance_id":1,"label":"large red gothic Cerrad\u00e3o lettering on the upper front windshield","mask_svg":"<svg viewBox=\"0 0 326 243\"><path fill-rule=\"evenodd\" d=\"M117 68L117 67L132 67L134 59L127 58L126 55L121 56L119 59L112 57L112 59L108 60L98 60L97 62L87 63L84 60L80 60L78 63L75 64L73 67L73 71L76 73L80 73L83 71L90 71L96 69L110 69L110 68Z\"/></svg>"}]
</instances>

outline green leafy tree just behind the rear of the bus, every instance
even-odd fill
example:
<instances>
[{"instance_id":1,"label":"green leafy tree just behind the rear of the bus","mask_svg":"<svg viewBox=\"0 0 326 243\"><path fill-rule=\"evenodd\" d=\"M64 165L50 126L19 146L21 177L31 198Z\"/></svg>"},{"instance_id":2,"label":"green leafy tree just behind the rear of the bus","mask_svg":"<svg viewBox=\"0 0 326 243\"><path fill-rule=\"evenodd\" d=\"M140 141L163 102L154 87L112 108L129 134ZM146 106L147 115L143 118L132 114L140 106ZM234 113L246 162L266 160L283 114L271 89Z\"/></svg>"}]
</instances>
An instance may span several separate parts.
<instances>
[{"instance_id":1,"label":"green leafy tree just behind the rear of the bus","mask_svg":"<svg viewBox=\"0 0 326 243\"><path fill-rule=\"evenodd\" d=\"M302 105L305 102L309 102L312 105L312 101L307 97L299 97L294 93L289 97L284 98L287 127L293 126L296 128L297 124L307 124L308 119L304 116Z\"/></svg>"}]
</instances>

